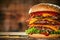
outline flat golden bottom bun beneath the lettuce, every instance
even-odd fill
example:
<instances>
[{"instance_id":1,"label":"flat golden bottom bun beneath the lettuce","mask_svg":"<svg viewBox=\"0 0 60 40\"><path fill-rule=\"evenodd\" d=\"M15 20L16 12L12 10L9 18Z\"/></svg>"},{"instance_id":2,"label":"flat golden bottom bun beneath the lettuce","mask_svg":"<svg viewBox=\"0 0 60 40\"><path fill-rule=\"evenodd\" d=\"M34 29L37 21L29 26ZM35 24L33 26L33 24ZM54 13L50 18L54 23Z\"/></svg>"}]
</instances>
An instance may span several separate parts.
<instances>
[{"instance_id":1,"label":"flat golden bottom bun beneath the lettuce","mask_svg":"<svg viewBox=\"0 0 60 40\"><path fill-rule=\"evenodd\" d=\"M59 34L51 34L49 36L45 36L43 34L29 34L29 37L33 37L33 38L58 38L60 37Z\"/></svg>"}]
</instances>

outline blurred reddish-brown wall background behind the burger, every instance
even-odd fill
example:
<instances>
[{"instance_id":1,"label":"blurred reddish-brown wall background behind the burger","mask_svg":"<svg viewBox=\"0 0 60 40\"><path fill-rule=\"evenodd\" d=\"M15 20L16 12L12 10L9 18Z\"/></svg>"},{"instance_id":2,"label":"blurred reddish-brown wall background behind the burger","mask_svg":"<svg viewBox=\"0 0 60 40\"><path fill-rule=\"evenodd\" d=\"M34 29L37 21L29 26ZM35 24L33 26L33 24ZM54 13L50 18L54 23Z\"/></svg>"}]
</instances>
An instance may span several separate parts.
<instances>
[{"instance_id":1,"label":"blurred reddish-brown wall background behind the burger","mask_svg":"<svg viewBox=\"0 0 60 40\"><path fill-rule=\"evenodd\" d=\"M0 0L0 32L21 32L28 26L29 9L39 3L60 6L60 0Z\"/></svg>"}]
</instances>

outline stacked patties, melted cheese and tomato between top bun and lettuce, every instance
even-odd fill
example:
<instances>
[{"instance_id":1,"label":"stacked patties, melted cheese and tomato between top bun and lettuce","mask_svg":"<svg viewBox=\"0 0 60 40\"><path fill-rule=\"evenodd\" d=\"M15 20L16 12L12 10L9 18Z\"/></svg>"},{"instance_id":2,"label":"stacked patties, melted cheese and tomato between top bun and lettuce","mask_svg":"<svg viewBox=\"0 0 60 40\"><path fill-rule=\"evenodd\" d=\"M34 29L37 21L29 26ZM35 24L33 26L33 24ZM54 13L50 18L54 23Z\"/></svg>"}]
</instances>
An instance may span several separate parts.
<instances>
[{"instance_id":1,"label":"stacked patties, melted cheese and tomato between top bun and lettuce","mask_svg":"<svg viewBox=\"0 0 60 40\"><path fill-rule=\"evenodd\" d=\"M33 20L32 20L33 19ZM29 28L36 28L38 30L44 30L45 33L52 31L58 31L60 29L59 17L53 13L35 13L29 19ZM44 32L42 32L44 33Z\"/></svg>"}]
</instances>

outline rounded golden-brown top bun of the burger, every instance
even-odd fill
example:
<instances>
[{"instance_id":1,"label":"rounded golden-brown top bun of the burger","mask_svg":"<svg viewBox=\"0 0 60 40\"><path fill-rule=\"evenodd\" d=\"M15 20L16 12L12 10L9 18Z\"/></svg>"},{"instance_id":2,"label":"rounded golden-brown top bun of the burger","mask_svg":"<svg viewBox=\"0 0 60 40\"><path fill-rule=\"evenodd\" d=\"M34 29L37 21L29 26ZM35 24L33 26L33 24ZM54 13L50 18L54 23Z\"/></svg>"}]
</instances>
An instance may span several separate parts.
<instances>
[{"instance_id":1,"label":"rounded golden-brown top bun of the burger","mask_svg":"<svg viewBox=\"0 0 60 40\"><path fill-rule=\"evenodd\" d=\"M29 14L37 11L53 11L60 13L60 7L50 3L40 3L30 8Z\"/></svg>"}]
</instances>

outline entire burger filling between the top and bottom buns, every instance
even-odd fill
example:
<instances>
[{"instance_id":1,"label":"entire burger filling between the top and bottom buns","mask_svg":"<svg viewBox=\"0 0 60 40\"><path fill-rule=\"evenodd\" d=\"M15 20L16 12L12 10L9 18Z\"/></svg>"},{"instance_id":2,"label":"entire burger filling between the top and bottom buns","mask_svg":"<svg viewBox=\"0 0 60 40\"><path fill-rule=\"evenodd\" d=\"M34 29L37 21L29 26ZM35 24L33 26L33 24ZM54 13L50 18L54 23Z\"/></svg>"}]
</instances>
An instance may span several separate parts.
<instances>
[{"instance_id":1,"label":"entire burger filling between the top and bottom buns","mask_svg":"<svg viewBox=\"0 0 60 40\"><path fill-rule=\"evenodd\" d=\"M33 28L38 30L37 33L44 35L59 34L60 22L58 19L58 13L56 12L33 12L30 14L29 29L31 29L31 32L28 32L28 34L35 33Z\"/></svg>"}]
</instances>

